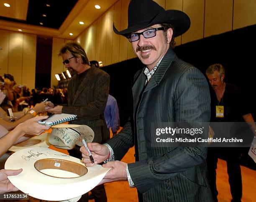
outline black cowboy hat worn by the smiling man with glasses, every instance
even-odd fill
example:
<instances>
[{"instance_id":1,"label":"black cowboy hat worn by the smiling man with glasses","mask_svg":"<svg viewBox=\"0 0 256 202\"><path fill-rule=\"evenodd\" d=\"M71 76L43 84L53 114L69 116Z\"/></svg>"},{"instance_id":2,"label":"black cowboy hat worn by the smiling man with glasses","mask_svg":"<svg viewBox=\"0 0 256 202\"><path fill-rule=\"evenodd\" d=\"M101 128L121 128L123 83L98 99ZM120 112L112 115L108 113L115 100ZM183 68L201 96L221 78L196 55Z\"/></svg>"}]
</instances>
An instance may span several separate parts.
<instances>
[{"instance_id":1,"label":"black cowboy hat worn by the smiling man with glasses","mask_svg":"<svg viewBox=\"0 0 256 202\"><path fill-rule=\"evenodd\" d=\"M131 0L128 7L128 28L119 32L113 23L113 30L118 35L126 36L161 23L173 25L174 37L184 34L190 27L189 17L182 11L164 10L153 0Z\"/></svg>"}]
</instances>

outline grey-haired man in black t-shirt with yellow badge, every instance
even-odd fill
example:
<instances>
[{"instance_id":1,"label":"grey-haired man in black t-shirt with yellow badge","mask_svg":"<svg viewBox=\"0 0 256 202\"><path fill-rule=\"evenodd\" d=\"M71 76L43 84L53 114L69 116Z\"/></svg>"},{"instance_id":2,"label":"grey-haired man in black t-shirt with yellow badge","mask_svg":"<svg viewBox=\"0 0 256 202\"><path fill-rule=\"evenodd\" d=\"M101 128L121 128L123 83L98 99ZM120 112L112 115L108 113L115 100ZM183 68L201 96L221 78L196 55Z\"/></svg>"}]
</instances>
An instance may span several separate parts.
<instances>
[{"instance_id":1,"label":"grey-haired man in black t-shirt with yellow badge","mask_svg":"<svg viewBox=\"0 0 256 202\"><path fill-rule=\"evenodd\" d=\"M211 122L248 122L255 130L253 117L248 104L238 87L224 82L225 69L221 64L214 64L207 68L206 75L212 89L211 95ZM239 158L239 148L209 148L207 167L210 178L210 187L215 201L218 201L216 187L216 168L218 157L227 161L228 181L232 195L232 202L241 202L242 178Z\"/></svg>"}]
</instances>

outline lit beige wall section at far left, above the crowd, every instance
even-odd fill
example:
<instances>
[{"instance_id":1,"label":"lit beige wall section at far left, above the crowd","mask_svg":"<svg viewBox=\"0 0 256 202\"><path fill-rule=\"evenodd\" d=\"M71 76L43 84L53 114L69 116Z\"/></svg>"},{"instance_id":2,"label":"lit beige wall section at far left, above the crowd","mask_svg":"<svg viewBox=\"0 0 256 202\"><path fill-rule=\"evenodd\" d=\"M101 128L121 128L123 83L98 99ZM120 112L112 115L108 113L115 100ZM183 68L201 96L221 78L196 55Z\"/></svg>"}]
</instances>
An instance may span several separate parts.
<instances>
[{"instance_id":1,"label":"lit beige wall section at far left, above the crowd","mask_svg":"<svg viewBox=\"0 0 256 202\"><path fill-rule=\"evenodd\" d=\"M17 84L33 89L36 77L36 35L0 30L0 75L14 76Z\"/></svg>"}]
</instances>

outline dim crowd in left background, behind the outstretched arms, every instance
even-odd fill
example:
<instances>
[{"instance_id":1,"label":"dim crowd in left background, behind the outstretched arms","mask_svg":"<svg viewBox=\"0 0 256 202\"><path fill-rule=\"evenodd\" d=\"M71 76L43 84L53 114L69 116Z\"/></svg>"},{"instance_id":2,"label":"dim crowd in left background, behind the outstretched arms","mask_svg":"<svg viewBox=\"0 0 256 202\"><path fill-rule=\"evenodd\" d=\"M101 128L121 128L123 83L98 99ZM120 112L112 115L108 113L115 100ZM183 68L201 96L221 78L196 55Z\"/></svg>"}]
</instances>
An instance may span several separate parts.
<instances>
[{"instance_id":1,"label":"dim crowd in left background, behind the outstretched arms","mask_svg":"<svg viewBox=\"0 0 256 202\"><path fill-rule=\"evenodd\" d=\"M6 95L0 107L7 111L12 108L13 112L22 111L26 107L34 106L46 98L56 104L67 103L67 88L65 89L32 89L30 90L26 84L17 84L13 75L4 74L0 76L0 90Z\"/></svg>"}]
</instances>

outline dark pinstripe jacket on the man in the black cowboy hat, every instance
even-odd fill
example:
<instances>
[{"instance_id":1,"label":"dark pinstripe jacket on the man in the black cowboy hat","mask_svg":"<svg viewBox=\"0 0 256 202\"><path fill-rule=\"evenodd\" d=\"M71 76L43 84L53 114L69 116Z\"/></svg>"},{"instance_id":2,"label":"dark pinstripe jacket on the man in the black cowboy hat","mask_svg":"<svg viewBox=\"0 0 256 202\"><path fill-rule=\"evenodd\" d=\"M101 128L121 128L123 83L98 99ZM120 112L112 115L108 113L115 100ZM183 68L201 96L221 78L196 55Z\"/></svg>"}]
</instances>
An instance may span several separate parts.
<instances>
[{"instance_id":1,"label":"dark pinstripe jacket on the man in the black cowboy hat","mask_svg":"<svg viewBox=\"0 0 256 202\"><path fill-rule=\"evenodd\" d=\"M133 85L133 116L110 139L120 160L135 142L136 162L128 164L134 185L147 202L212 201L205 147L151 147L151 122L209 122L209 87L202 73L170 48L144 87L143 70Z\"/></svg>"}]
</instances>

